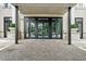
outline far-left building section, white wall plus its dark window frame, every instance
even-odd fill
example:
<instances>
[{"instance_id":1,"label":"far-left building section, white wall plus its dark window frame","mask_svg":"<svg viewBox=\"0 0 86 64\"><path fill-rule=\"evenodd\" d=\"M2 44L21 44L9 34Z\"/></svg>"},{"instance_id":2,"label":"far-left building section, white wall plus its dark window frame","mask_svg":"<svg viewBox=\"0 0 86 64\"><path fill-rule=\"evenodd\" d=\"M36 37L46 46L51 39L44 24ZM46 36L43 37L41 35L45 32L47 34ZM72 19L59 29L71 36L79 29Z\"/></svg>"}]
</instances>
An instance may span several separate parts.
<instances>
[{"instance_id":1,"label":"far-left building section, white wall plus its dark window frame","mask_svg":"<svg viewBox=\"0 0 86 64\"><path fill-rule=\"evenodd\" d=\"M0 37L7 37L9 21L12 21L11 4L0 4Z\"/></svg>"}]
</instances>

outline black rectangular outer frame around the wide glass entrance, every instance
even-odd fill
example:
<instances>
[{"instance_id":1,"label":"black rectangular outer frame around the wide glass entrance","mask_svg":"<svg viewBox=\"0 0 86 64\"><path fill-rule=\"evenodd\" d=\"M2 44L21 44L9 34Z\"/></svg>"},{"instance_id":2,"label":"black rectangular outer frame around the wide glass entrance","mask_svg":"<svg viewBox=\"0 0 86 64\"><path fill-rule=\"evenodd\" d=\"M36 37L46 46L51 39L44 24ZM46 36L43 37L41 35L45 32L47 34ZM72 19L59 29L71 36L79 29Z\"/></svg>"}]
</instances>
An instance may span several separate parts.
<instances>
[{"instance_id":1,"label":"black rectangular outer frame around the wide glass entrance","mask_svg":"<svg viewBox=\"0 0 86 64\"><path fill-rule=\"evenodd\" d=\"M24 38L25 39L32 39L32 38L26 38L26 26L25 26L25 18L41 18L40 16L24 16ZM61 18L61 38L42 38L42 39L63 39L63 18L62 17L44 17L44 18ZM51 24L51 23L50 23ZM41 39L41 38L34 38L34 39Z\"/></svg>"}]
</instances>

